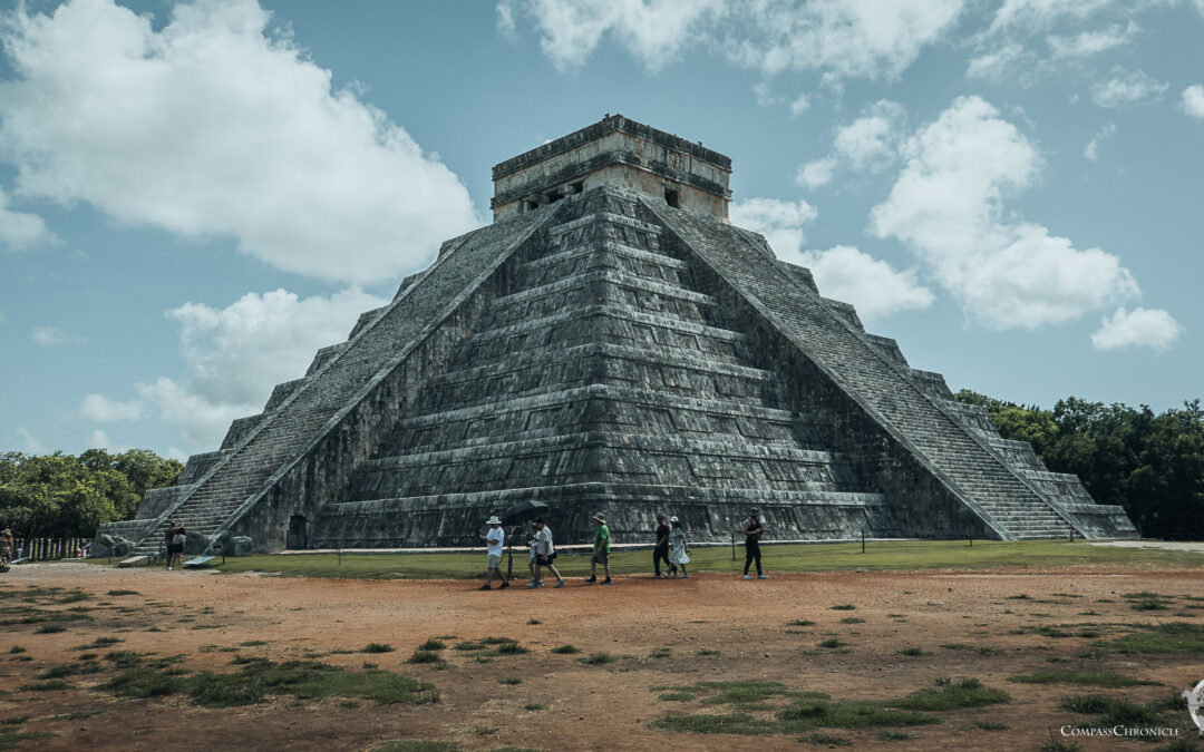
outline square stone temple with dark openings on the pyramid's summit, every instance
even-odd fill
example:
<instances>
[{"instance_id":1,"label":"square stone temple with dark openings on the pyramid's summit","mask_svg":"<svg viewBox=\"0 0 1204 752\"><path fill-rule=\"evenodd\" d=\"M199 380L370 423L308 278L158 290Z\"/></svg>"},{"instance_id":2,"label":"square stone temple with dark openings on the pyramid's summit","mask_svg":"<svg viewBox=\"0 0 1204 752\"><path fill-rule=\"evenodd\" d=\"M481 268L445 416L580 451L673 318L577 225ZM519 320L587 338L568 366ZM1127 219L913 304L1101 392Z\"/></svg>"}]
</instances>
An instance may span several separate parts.
<instances>
[{"instance_id":1,"label":"square stone temple with dark openings on the pyramid's summit","mask_svg":"<svg viewBox=\"0 0 1204 752\"><path fill-rule=\"evenodd\" d=\"M494 221L608 185L727 219L732 160L621 114L494 165Z\"/></svg>"}]
</instances>

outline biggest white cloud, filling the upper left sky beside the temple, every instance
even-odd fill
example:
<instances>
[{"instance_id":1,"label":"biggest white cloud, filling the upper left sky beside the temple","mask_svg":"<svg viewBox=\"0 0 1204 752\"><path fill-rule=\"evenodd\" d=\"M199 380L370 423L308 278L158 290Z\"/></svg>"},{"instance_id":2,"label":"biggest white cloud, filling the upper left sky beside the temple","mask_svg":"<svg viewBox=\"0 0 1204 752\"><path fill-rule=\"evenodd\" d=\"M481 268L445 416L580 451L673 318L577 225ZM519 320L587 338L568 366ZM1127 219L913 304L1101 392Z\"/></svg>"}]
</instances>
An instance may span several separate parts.
<instances>
[{"instance_id":1,"label":"biggest white cloud, filling the upper left sky beside the temple","mask_svg":"<svg viewBox=\"0 0 1204 752\"><path fill-rule=\"evenodd\" d=\"M161 28L113 0L18 4L0 23L14 194L352 283L478 224L452 171L270 23L255 0L182 2Z\"/></svg>"}]
</instances>

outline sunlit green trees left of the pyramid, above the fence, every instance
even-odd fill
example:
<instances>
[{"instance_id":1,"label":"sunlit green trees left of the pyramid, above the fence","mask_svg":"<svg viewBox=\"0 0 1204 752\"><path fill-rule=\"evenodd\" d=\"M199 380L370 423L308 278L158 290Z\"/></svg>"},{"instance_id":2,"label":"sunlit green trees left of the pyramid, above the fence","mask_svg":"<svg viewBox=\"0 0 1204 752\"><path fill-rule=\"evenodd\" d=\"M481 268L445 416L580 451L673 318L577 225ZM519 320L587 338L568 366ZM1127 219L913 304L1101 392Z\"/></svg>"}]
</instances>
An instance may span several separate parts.
<instances>
[{"instance_id":1,"label":"sunlit green trees left of the pyramid, above the fence","mask_svg":"<svg viewBox=\"0 0 1204 752\"><path fill-rule=\"evenodd\" d=\"M0 528L18 538L89 538L104 522L131 519L147 490L172 485L183 469L147 449L0 454Z\"/></svg>"}]
</instances>

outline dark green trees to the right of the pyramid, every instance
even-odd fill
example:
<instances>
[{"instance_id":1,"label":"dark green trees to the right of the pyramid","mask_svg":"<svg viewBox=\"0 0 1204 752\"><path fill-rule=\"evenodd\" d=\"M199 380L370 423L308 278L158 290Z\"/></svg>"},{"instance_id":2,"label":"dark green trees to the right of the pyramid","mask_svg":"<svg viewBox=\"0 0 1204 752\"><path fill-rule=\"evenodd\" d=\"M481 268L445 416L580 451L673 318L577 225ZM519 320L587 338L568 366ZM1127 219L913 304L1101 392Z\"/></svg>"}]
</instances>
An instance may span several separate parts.
<instances>
[{"instance_id":1,"label":"dark green trees to the right of the pyramid","mask_svg":"<svg viewBox=\"0 0 1204 752\"><path fill-rule=\"evenodd\" d=\"M1155 414L1149 405L1060 399L1052 410L992 399L986 407L1005 439L1029 442L1055 473L1073 473L1100 504L1119 504L1146 538L1204 538L1204 409L1185 402Z\"/></svg>"}]
</instances>

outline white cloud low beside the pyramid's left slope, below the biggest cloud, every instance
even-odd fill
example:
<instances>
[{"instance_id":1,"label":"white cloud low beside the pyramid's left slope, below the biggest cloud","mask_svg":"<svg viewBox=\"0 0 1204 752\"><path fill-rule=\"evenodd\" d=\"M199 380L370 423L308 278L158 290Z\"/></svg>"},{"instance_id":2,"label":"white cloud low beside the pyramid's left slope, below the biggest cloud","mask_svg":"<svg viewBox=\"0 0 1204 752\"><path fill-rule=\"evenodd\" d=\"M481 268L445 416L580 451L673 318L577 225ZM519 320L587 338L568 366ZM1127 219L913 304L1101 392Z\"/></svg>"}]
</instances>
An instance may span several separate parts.
<instances>
[{"instance_id":1,"label":"white cloud low beside the pyramid's left slope, below the biggest cloud","mask_svg":"<svg viewBox=\"0 0 1204 752\"><path fill-rule=\"evenodd\" d=\"M248 292L225 308L184 303L167 312L179 324L183 378L137 384L137 399L175 426L194 448L214 448L235 418L262 410L272 387L305 375L314 353L347 338L359 314L388 301L360 290L300 298L287 290Z\"/></svg>"}]
</instances>

